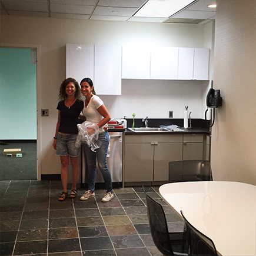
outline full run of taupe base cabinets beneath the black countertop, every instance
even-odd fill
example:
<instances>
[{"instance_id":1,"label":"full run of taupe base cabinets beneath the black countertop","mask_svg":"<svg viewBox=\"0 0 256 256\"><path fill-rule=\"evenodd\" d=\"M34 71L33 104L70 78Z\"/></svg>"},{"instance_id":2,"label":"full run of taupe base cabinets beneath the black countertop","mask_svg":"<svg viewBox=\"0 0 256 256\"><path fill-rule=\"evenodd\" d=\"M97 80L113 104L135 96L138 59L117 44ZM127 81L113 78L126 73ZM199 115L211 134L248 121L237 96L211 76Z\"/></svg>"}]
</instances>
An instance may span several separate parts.
<instances>
[{"instance_id":1,"label":"full run of taupe base cabinets beneath the black countertop","mask_svg":"<svg viewBox=\"0 0 256 256\"><path fill-rule=\"evenodd\" d=\"M126 135L124 182L168 181L168 163L204 159L204 134Z\"/></svg>"}]
</instances>

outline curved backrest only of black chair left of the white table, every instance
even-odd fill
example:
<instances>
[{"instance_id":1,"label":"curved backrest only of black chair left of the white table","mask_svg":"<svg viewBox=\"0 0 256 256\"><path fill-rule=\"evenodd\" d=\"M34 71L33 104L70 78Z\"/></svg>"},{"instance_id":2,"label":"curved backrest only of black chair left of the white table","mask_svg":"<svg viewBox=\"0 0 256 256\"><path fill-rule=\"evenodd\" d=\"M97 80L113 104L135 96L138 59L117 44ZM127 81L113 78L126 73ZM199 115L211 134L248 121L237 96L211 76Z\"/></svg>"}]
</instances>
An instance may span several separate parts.
<instances>
[{"instance_id":1,"label":"curved backrest only of black chair left of the white table","mask_svg":"<svg viewBox=\"0 0 256 256\"><path fill-rule=\"evenodd\" d=\"M154 244L162 254L174 255L169 240L168 225L164 209L161 204L149 197L144 187L142 187L142 189L146 195L149 227Z\"/></svg>"}]
</instances>

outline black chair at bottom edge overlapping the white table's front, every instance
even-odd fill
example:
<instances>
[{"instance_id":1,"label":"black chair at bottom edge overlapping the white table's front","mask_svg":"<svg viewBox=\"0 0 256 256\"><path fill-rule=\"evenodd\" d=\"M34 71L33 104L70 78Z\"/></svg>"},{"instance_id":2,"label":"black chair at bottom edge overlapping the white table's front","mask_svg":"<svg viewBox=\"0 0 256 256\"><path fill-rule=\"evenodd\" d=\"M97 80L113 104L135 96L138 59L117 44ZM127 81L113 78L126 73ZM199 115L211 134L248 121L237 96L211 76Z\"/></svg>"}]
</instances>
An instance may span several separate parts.
<instances>
[{"instance_id":1,"label":"black chair at bottom edge overlapping the white table's front","mask_svg":"<svg viewBox=\"0 0 256 256\"><path fill-rule=\"evenodd\" d=\"M185 227L187 231L187 243L189 255L218 255L214 242L211 238L202 234L194 226L192 226L185 218L184 213L181 211L181 215L185 221Z\"/></svg>"}]
</instances>

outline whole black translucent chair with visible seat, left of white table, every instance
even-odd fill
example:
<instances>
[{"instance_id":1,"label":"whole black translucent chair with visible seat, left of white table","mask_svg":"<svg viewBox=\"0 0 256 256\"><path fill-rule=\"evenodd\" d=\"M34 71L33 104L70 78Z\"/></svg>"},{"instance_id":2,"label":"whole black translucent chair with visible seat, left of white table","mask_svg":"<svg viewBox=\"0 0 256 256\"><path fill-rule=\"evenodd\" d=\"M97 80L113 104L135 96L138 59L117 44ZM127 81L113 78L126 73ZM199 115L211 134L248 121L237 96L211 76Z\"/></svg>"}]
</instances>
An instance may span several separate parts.
<instances>
[{"instance_id":1,"label":"whole black translucent chair with visible seat, left of white table","mask_svg":"<svg viewBox=\"0 0 256 256\"><path fill-rule=\"evenodd\" d=\"M144 187L142 189L146 195L149 227L155 246L164 255L188 255L184 253L187 248L185 232L168 232L162 205L149 197Z\"/></svg>"}]
</instances>

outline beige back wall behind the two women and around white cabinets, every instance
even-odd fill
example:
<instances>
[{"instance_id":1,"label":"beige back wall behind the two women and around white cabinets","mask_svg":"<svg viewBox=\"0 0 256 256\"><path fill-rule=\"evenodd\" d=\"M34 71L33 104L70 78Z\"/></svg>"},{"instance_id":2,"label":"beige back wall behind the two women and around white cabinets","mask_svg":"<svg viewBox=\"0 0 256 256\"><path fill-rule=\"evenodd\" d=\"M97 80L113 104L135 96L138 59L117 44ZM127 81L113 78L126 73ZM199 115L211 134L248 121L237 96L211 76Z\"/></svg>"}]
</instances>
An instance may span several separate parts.
<instances>
[{"instance_id":1,"label":"beige back wall behind the two women and around white cabinets","mask_svg":"<svg viewBox=\"0 0 256 256\"><path fill-rule=\"evenodd\" d=\"M0 25L0 46L38 49L39 174L60 173L59 157L55 156L52 142L58 114L59 85L65 79L65 44L148 44L199 48L211 48L212 45L212 24L154 24L1 15ZM121 96L104 95L102 99L113 118L131 117L133 112L141 109L144 112L139 112L138 117L167 118L168 111L172 110L175 118L182 118L185 105L189 105L192 118L201 118L205 110L202 97L207 90L208 83L201 81L124 81ZM49 109L49 117L41 117L41 108ZM151 108L157 111L153 112ZM125 109L129 109L128 114Z\"/></svg>"}]
</instances>

